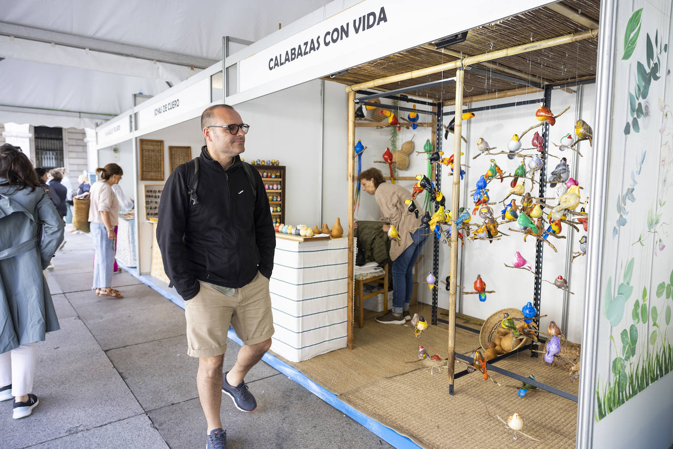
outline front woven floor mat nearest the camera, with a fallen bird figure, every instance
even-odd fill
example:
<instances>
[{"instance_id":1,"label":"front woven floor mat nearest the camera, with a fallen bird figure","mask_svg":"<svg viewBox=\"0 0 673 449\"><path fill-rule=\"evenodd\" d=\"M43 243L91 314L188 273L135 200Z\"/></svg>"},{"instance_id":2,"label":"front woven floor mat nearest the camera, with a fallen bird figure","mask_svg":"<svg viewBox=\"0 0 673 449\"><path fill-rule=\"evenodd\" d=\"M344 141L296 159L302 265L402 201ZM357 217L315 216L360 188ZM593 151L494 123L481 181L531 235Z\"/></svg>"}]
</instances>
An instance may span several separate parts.
<instances>
[{"instance_id":1,"label":"front woven floor mat nearest the camera, with a fallen bird figure","mask_svg":"<svg viewBox=\"0 0 673 449\"><path fill-rule=\"evenodd\" d=\"M563 370L545 364L530 353L513 355L497 366L577 394L577 382ZM573 448L577 403L541 390L520 398L521 383L497 373L502 386L484 381L475 372L456 379L455 395L448 394L446 369L431 375L423 368L391 378L383 378L339 396L355 409L380 423L409 436L424 448ZM516 386L511 388L509 386ZM513 440L513 431L495 416L507 421L512 413L524 418L522 434Z\"/></svg>"}]
</instances>

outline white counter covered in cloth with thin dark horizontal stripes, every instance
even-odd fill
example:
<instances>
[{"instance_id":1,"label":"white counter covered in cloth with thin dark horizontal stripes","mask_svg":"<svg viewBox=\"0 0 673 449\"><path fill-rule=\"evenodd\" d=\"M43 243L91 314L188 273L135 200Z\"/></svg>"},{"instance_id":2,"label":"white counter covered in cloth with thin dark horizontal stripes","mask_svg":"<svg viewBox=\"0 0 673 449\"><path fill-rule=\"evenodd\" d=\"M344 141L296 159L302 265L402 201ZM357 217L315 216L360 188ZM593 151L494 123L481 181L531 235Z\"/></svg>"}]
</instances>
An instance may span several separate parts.
<instances>
[{"instance_id":1,"label":"white counter covered in cloth with thin dark horizontal stripes","mask_svg":"<svg viewBox=\"0 0 673 449\"><path fill-rule=\"evenodd\" d=\"M271 351L296 362L346 347L347 273L347 238L296 242L277 234Z\"/></svg>"}]
</instances>

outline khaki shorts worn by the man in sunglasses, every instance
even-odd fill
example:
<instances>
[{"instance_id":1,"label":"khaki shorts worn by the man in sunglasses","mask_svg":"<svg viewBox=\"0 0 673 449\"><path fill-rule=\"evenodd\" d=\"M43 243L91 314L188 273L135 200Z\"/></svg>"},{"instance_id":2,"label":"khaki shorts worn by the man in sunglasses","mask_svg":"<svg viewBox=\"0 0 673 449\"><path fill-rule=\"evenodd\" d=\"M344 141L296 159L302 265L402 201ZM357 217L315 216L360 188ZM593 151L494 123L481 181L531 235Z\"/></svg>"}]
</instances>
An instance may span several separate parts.
<instances>
[{"instance_id":1,"label":"khaki shorts worn by the man in sunglasses","mask_svg":"<svg viewBox=\"0 0 673 449\"><path fill-rule=\"evenodd\" d=\"M227 351L229 324L244 345L256 345L273 335L273 315L269 279L262 273L248 285L226 296L215 287L199 281L197 296L184 302L187 322L187 354L215 357Z\"/></svg>"}]
</instances>

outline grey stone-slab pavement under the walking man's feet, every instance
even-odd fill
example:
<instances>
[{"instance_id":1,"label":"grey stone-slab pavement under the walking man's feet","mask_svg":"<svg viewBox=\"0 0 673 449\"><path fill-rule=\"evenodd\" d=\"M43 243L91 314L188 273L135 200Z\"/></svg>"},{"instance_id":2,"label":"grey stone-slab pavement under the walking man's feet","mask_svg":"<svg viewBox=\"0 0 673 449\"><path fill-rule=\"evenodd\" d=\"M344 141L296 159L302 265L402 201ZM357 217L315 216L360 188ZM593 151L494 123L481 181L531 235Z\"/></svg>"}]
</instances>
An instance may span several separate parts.
<instances>
[{"instance_id":1,"label":"grey stone-slab pavement under the walking man's feet","mask_svg":"<svg viewBox=\"0 0 673 449\"><path fill-rule=\"evenodd\" d=\"M61 330L38 343L40 405L12 419L11 401L0 403L0 447L203 448L198 361L186 355L184 311L129 273L112 281L125 298L95 296L92 240L68 232L66 240L55 270L44 272ZM227 343L225 369L239 348ZM246 382L256 411L222 401L229 449L392 447L264 362Z\"/></svg>"}]
</instances>

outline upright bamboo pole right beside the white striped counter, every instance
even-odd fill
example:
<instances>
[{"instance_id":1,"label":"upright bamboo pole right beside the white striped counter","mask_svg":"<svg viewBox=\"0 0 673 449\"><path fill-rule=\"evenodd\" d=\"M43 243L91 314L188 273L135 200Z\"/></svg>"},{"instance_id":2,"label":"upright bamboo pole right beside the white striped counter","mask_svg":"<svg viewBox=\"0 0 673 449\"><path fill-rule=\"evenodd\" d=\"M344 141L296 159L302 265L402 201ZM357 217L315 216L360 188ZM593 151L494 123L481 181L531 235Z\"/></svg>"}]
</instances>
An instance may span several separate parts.
<instances>
[{"instance_id":1,"label":"upright bamboo pole right beside the white striped counter","mask_svg":"<svg viewBox=\"0 0 673 449\"><path fill-rule=\"evenodd\" d=\"M355 278L353 277L353 212L355 207L355 92L348 94L348 349L353 349L353 301L355 300Z\"/></svg>"}]
</instances>

